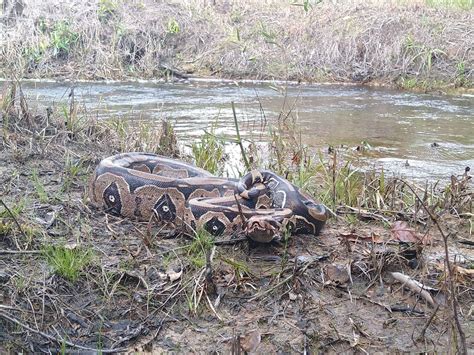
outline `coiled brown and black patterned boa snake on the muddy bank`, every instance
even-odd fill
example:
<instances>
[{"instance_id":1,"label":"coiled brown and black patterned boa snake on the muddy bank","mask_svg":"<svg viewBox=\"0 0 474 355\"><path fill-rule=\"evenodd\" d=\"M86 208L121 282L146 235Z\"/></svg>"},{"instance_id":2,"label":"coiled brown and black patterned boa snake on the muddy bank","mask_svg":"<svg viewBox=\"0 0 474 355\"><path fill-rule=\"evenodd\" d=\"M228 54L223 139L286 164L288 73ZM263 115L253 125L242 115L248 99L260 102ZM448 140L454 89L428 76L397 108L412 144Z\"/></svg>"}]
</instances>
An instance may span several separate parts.
<instances>
[{"instance_id":1,"label":"coiled brown and black patterned boa snake on the muddy bank","mask_svg":"<svg viewBox=\"0 0 474 355\"><path fill-rule=\"evenodd\" d=\"M89 183L91 202L128 218L204 228L213 236L244 232L269 242L290 228L317 235L327 214L286 179L252 171L241 179L215 177L184 162L148 153L123 153L102 160Z\"/></svg>"}]
</instances>

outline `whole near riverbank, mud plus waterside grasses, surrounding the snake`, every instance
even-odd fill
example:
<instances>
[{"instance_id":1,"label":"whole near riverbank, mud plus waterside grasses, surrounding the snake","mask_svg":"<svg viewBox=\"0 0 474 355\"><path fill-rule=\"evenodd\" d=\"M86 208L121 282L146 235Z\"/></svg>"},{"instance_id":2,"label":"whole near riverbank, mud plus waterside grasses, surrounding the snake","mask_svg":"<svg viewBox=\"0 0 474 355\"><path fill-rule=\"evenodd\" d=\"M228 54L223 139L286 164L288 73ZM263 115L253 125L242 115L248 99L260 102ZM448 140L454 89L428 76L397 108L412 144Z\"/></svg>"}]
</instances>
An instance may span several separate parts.
<instances>
[{"instance_id":1,"label":"whole near riverbank, mud plus waterside grasses, surrounding the snake","mask_svg":"<svg viewBox=\"0 0 474 355\"><path fill-rule=\"evenodd\" d=\"M209 132L184 156L169 124L97 121L72 92L35 112L21 92L10 87L0 111L1 352L474 346L469 172L446 187L360 174L339 151L311 155L282 112L265 168L335 216L318 237L227 245L107 215L89 204L87 181L102 158L126 151L219 174L229 141ZM241 154L263 167L259 152Z\"/></svg>"}]
</instances>

